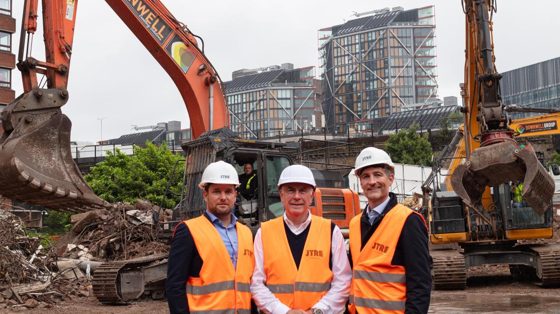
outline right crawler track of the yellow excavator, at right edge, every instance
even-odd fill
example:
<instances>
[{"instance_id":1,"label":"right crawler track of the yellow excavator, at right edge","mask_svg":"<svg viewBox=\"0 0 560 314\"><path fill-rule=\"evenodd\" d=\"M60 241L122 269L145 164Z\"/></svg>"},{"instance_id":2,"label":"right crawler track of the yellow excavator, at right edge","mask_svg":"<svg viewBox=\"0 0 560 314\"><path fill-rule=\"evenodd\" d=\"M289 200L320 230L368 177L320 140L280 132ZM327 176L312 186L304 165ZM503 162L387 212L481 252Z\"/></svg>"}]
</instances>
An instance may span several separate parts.
<instances>
[{"instance_id":1,"label":"right crawler track of the yellow excavator, at right edge","mask_svg":"<svg viewBox=\"0 0 560 314\"><path fill-rule=\"evenodd\" d=\"M531 245L530 249L537 254L536 275L540 282L536 285L540 287L560 285L560 245Z\"/></svg>"}]
</instances>

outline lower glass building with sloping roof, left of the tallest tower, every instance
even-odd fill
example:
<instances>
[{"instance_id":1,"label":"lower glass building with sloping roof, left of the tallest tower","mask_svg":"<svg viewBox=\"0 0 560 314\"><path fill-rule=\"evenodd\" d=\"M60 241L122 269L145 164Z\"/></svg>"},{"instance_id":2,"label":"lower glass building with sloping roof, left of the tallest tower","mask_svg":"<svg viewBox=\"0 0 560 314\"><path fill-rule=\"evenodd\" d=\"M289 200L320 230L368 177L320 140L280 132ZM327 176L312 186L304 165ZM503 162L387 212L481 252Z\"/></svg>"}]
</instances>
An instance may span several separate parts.
<instances>
[{"instance_id":1,"label":"lower glass building with sloping roof, left of the tallest tower","mask_svg":"<svg viewBox=\"0 0 560 314\"><path fill-rule=\"evenodd\" d=\"M293 64L242 69L225 82L231 130L245 139L290 134L320 126L320 81L315 67ZM318 124L319 121L319 124Z\"/></svg>"}]
</instances>

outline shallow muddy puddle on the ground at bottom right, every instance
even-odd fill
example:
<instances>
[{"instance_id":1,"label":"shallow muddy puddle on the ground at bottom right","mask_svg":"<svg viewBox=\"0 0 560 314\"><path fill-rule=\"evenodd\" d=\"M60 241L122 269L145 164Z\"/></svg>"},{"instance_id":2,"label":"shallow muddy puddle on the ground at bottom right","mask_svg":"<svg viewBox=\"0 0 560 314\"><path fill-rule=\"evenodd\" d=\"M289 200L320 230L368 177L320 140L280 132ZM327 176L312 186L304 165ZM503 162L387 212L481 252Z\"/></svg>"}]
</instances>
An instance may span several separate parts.
<instances>
[{"instance_id":1,"label":"shallow muddy puddle on the ground at bottom right","mask_svg":"<svg viewBox=\"0 0 560 314\"><path fill-rule=\"evenodd\" d=\"M560 313L560 296L553 298L479 293L432 296L428 313Z\"/></svg>"}]
</instances>

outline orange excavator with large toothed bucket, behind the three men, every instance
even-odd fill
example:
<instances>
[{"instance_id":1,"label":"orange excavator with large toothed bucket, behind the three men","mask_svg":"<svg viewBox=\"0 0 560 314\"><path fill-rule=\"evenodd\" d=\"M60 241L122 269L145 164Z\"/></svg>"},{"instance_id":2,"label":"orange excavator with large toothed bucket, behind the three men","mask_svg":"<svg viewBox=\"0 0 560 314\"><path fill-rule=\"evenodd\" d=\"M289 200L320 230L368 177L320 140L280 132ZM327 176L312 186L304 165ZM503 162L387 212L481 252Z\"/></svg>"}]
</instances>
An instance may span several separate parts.
<instances>
[{"instance_id":1,"label":"orange excavator with large toothed bucket, behind the three men","mask_svg":"<svg viewBox=\"0 0 560 314\"><path fill-rule=\"evenodd\" d=\"M256 231L261 222L281 215L276 184L283 168L293 163L292 154L281 150L285 144L243 140L227 128L230 116L222 81L204 55L202 39L200 47L198 36L160 0L106 2L169 74L185 101L196 140L183 145L188 160L186 185L174 218L181 221L204 211L197 184L204 168L218 160L239 166L256 163L259 189L254 199L245 200L236 210L240 222ZM110 208L111 204L97 197L83 180L72 160L71 121L60 109L69 99L67 83L78 0L42 0L42 6L44 62L29 55L29 36L37 30L38 0L25 0L17 63L24 93L0 113L5 130L0 137L0 195L62 212ZM39 86L38 74L46 77L46 88ZM347 231L350 219L360 212L358 194L337 188L342 177L322 178L333 185L317 189L310 209ZM162 228L172 231L172 226L166 223ZM100 302L110 304L162 298L166 269L165 255L103 263L95 270L94 294Z\"/></svg>"}]
</instances>

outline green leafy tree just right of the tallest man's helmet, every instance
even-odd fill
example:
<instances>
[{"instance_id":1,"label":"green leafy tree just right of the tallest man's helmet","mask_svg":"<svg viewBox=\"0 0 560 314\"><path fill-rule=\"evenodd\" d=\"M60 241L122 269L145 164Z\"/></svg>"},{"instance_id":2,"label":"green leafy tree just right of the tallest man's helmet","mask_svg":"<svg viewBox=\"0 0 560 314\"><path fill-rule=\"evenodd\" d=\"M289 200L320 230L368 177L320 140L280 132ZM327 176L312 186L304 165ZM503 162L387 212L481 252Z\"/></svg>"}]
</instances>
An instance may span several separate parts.
<instances>
[{"instance_id":1,"label":"green leafy tree just right of the tallest man's helmet","mask_svg":"<svg viewBox=\"0 0 560 314\"><path fill-rule=\"evenodd\" d=\"M411 125L407 130L400 130L391 134L385 142L385 151L396 163L408 165L432 165L432 146L428 142L428 134L420 136L416 130L417 125Z\"/></svg>"}]
</instances>

